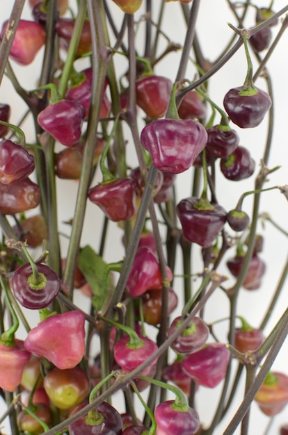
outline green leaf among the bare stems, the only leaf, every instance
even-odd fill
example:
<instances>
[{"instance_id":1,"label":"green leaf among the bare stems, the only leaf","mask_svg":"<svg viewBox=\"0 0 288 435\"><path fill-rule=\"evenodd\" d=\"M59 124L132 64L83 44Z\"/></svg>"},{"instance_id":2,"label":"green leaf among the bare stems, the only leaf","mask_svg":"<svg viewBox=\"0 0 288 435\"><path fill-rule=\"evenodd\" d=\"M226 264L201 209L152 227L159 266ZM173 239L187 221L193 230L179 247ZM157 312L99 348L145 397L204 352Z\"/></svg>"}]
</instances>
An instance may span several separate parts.
<instances>
[{"instance_id":1,"label":"green leaf among the bare stems, the only leaf","mask_svg":"<svg viewBox=\"0 0 288 435\"><path fill-rule=\"evenodd\" d=\"M93 292L92 303L97 311L102 311L109 295L113 293L112 274L108 274L106 284L104 278L106 274L107 263L102 256L97 254L92 247L86 245L81 249L79 254L79 269L90 284Z\"/></svg>"}]
</instances>

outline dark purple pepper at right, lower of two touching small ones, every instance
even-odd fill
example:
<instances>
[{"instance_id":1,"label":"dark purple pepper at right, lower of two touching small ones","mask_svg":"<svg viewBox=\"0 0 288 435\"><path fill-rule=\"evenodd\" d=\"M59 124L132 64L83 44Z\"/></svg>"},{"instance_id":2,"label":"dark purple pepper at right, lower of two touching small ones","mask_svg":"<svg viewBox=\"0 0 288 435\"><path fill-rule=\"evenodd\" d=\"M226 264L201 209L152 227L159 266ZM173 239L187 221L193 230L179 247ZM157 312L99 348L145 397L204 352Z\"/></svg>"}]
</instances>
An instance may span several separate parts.
<instances>
[{"instance_id":1,"label":"dark purple pepper at right, lower of two touching small ones","mask_svg":"<svg viewBox=\"0 0 288 435\"><path fill-rule=\"evenodd\" d=\"M240 181L253 174L255 161L248 149L239 145L230 156L221 158L220 169L228 180Z\"/></svg>"}]
</instances>

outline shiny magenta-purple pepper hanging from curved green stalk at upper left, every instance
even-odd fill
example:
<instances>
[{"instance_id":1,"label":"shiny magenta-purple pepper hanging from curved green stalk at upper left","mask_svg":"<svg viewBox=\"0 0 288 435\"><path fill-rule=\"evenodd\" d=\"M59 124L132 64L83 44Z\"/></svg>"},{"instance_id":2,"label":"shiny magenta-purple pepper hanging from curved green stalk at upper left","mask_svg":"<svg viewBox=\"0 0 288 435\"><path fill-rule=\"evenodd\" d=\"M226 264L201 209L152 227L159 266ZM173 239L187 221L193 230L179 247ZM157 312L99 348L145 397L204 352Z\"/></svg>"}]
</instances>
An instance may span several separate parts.
<instances>
[{"instance_id":1,"label":"shiny magenta-purple pepper hanging from curved green stalk at upper left","mask_svg":"<svg viewBox=\"0 0 288 435\"><path fill-rule=\"evenodd\" d=\"M55 140L66 147L72 147L81 137L84 117L85 109L82 104L63 99L42 110L37 120L40 127Z\"/></svg>"}]
</instances>

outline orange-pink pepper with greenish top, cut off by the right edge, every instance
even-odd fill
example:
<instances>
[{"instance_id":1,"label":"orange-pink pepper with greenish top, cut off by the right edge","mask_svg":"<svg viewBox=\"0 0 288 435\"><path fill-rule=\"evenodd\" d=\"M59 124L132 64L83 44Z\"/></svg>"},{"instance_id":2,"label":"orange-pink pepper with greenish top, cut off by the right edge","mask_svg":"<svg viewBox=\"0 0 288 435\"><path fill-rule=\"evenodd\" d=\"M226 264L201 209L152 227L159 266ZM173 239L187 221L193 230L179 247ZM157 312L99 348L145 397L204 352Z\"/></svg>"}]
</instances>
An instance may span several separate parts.
<instances>
[{"instance_id":1,"label":"orange-pink pepper with greenish top, cut off by the right edge","mask_svg":"<svg viewBox=\"0 0 288 435\"><path fill-rule=\"evenodd\" d=\"M288 376L282 372L271 372L254 397L266 416L275 416L288 403Z\"/></svg>"}]
</instances>

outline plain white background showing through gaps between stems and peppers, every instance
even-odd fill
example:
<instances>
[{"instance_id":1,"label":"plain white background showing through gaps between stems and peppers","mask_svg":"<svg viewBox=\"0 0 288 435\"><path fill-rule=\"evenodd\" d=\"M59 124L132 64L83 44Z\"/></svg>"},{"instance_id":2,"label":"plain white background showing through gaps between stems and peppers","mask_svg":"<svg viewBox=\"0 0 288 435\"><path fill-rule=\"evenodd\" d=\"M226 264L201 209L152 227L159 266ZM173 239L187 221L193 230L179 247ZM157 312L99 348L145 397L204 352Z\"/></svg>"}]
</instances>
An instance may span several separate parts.
<instances>
[{"instance_id":1,"label":"plain white background showing through gaps between stems and peppers","mask_svg":"<svg viewBox=\"0 0 288 435\"><path fill-rule=\"evenodd\" d=\"M154 0L155 7L159 6L159 3L160 0ZM255 3L259 6L269 5L269 1L267 0L263 0L262 2L255 1ZM12 6L12 1L0 1L0 25L5 19L9 17ZM275 0L273 9L277 11L283 6L285 6L285 1ZM117 6L112 5L111 7L113 11L118 14L120 26L122 13L120 13ZM143 10L138 11L138 13L136 14L136 19L140 18L142 13ZM28 5L26 5L24 8L23 18L31 19L31 13ZM236 23L234 22L234 17L228 10L226 2L224 0L201 1L197 32L202 50L208 60L214 60L214 58L218 56L218 53L221 52L221 49L225 47L225 44L231 37L232 30L227 26L227 22L232 22L232 24L236 25ZM249 15L248 17L247 26L253 26L254 24L254 13L251 13L251 15ZM277 28L273 28L273 35L275 35L279 28L280 25L278 25ZM165 29L166 33L170 36L170 39L173 42L183 44L185 26L177 2L168 3L166 6ZM278 47L276 48L268 65L269 72L273 78L273 90L275 95L275 133L273 135L273 152L269 160L269 167L281 165L281 168L277 172L271 174L271 177L269 177L269 181L266 183L265 187L275 185L282 186L288 183L287 42L288 36L286 33L278 44ZM143 40L141 40L141 26L139 33L136 36L136 44L139 44L138 47L143 47ZM157 72L157 74L169 76L170 79L174 80L177 73L179 56L180 53L170 54L161 65L157 66L155 72ZM37 77L40 72L41 60L42 51L40 51L40 53L38 54L35 62L29 66L22 67L16 65L13 62L11 63L15 70L15 74L17 74L17 77L23 88L29 90L37 86ZM124 72L125 68L127 67L126 60L123 60L120 56L115 56L115 62L116 65L118 65L118 71ZM79 69L82 69L80 63L78 64L78 67ZM193 79L194 74L195 69L192 64L189 64L189 69L187 71L186 77L188 79ZM237 55L234 56L234 58L230 60L230 62L227 63L225 67L223 67L221 72L218 72L211 79L209 84L211 99L214 99L214 101L216 101L221 106L223 101L223 95L225 95L225 92L227 92L227 90L229 90L230 88L241 85L243 83L243 80L245 79L245 76L246 58L243 49L240 49ZM257 86L264 87L264 81L262 79L259 79L257 81ZM24 113L25 104L23 104L22 101L19 101L19 98L15 96L15 92L13 91L10 82L6 78L3 79L0 88L0 101L10 104L10 106L12 107L10 122L17 124L19 119L22 117L22 114ZM257 129L247 129L240 131L240 129L238 129L236 126L233 128L235 128L239 132L239 136L241 138L241 145L247 147L250 150L253 158L255 159L257 166L255 171L256 174L259 170L259 159L261 158L264 149L266 121L264 121ZM33 142L35 138L33 127L31 126L31 124L26 123L24 131L26 133L26 140L28 142ZM129 143L127 145L129 149L129 163L131 164L131 166L133 166L136 165L136 160L129 132L127 132L127 138L129 140ZM61 149L61 147L59 147L59 149ZM95 182L100 180L101 178L97 173ZM241 181L240 183L237 183L227 181L226 179L224 179L223 176L221 176L221 174L219 174L217 181L217 192L221 192L221 195L218 193L218 199L221 198L221 205L224 206L227 211L233 208L237 204L239 195L241 195L242 192L246 190L253 190L253 183L253 177L246 181ZM74 199L76 193L76 182L73 183L71 181L63 180L58 181L58 215L59 222L61 222L60 230L66 234L68 233L69 228L67 228L67 225L63 224L63 222L70 220L70 218L73 216ZM191 195L191 171L187 171L177 177L177 195L178 199L182 199ZM244 201L244 210L250 213L251 206L252 199L248 197ZM97 249L99 245L99 233L102 228L102 215L101 213L99 213L97 207L93 204L88 204L87 211L88 213L85 228L83 230L81 245L84 246L89 243L93 245L95 249ZM264 211L270 213L271 217L273 217L273 219L287 231L287 201L285 197L280 195L278 190L266 192L262 195L260 212ZM122 244L120 242L122 232L116 224L111 224L109 229L111 231L109 233L109 240L105 251L105 258L109 262L119 261L120 259L122 259L122 256L124 254ZM264 307L269 304L269 301L273 295L273 291L275 290L275 286L278 283L278 277L280 276L280 272L285 264L285 261L287 260L287 239L285 238L285 236L282 236L277 230L275 230L271 226L271 224L269 224L269 222L266 223L264 229L259 226L258 232L262 233L262 235L264 236L264 252L261 254L261 256L266 263L266 273L263 277L262 287L259 290L256 290L254 292L241 290L241 298L238 306L238 313L244 315L248 322L250 322L255 327L257 327L257 325L259 325L259 322L261 322L262 320L263 312L265 311ZM63 243L64 256L65 249L67 249L67 240L63 237L61 241ZM200 271L202 265L200 261L200 256L198 258L198 249L194 249L194 252L194 261L196 264L195 270ZM229 256L232 256L233 254L234 252L229 252L227 254L227 258ZM181 255L179 255L179 258L181 258ZM181 274L180 263L177 265L177 272ZM221 272L227 274L227 268L225 267L225 263L223 263ZM233 282L234 281L230 279L227 286L232 285ZM181 286L181 279L176 278L175 291L179 295L181 295ZM273 313L271 321L266 328L266 334L269 333L269 331L275 324L275 321L278 319L279 315L282 313L282 311L284 311L287 306L287 291L288 288L286 284L285 288L282 290L282 295L280 296L278 304L275 308L275 313ZM88 306L87 300L85 299L85 297L81 296L79 292L77 293L76 303L81 304L82 306ZM207 309L205 311L205 320L207 320L207 322L212 322L213 320L227 317L227 313L227 299L219 291L214 297L211 298L209 304L207 304ZM35 313L27 312L29 320L31 321L31 325L38 321L37 316L35 316L34 314ZM226 327L227 324L223 322L223 324L219 325L219 327L217 328L218 336L223 341L226 340ZM151 334L154 334L153 329L151 329ZM25 336L24 331L22 331L21 329L19 331L19 336L22 336L23 338ZM282 370L288 375L287 356L287 343L285 343L282 347L281 354L275 361L273 369ZM213 416L214 405L220 391L221 387L215 388L214 390L200 388L200 391L197 394L196 404L200 413L201 420L207 421L207 419L209 419L209 416ZM234 410L237 409L240 402L241 391L239 391L237 397L235 397L233 404ZM122 395L118 395L113 403L115 404L115 407L118 407L118 409L122 411ZM139 411L140 415L141 413L142 411ZM223 433L223 429L225 429L227 422L229 422L231 416L232 413L223 423L221 423L221 425L219 425L218 429L216 429L215 432L216 435L221 435ZM284 411L282 411L282 413L275 417L269 434L277 434L278 427L281 422L288 422L287 409L285 409ZM249 434L264 434L265 428L268 423L269 418L264 416L259 411L257 406L253 404ZM6 429L6 432L8 433L8 429ZM237 431L235 433L239 434L240 432Z\"/></svg>"}]
</instances>

